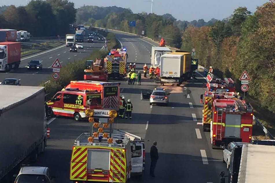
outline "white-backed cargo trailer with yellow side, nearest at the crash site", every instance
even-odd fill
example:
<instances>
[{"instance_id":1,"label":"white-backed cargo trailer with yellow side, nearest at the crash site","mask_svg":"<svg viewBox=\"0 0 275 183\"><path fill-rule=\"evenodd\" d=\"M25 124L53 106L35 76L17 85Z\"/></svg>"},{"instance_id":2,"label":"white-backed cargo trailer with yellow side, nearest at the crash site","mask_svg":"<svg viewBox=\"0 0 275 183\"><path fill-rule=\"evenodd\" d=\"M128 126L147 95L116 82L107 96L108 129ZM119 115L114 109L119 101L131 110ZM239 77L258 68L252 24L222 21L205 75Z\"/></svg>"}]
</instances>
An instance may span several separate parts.
<instances>
[{"instance_id":1,"label":"white-backed cargo trailer with yellow side, nearest at the crash site","mask_svg":"<svg viewBox=\"0 0 275 183\"><path fill-rule=\"evenodd\" d=\"M191 53L174 52L160 57L160 84L175 83L179 86L191 78Z\"/></svg>"}]
</instances>

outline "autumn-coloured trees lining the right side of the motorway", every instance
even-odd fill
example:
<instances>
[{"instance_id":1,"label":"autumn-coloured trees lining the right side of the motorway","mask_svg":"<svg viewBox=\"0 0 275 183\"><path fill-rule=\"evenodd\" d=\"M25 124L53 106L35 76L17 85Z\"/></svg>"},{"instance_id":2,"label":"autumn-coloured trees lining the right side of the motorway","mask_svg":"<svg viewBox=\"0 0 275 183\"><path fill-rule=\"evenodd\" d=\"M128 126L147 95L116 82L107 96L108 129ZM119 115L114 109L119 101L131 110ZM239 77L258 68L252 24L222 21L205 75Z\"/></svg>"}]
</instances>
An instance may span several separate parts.
<instances>
[{"instance_id":1,"label":"autumn-coloured trees lining the right side of the motorway","mask_svg":"<svg viewBox=\"0 0 275 183\"><path fill-rule=\"evenodd\" d=\"M227 22L185 29L182 49L196 49L200 64L238 81L243 70L251 77L249 94L275 113L275 1L252 14L237 8ZM238 81L238 85L240 85Z\"/></svg>"}]
</instances>

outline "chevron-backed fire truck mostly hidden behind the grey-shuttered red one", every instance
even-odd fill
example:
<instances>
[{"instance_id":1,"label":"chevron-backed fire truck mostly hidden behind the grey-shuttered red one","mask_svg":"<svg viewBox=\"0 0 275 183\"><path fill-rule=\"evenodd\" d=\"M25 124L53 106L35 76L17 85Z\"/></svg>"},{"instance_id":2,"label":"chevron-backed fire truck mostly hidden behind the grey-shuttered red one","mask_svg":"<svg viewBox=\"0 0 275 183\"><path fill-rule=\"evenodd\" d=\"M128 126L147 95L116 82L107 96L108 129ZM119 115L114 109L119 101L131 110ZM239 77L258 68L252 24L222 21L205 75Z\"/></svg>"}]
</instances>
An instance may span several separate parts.
<instances>
[{"instance_id":1,"label":"chevron-backed fire truck mostly hidden behind the grey-shuttered red one","mask_svg":"<svg viewBox=\"0 0 275 183\"><path fill-rule=\"evenodd\" d=\"M212 120L212 106L215 99L237 99L235 92L205 91L200 96L203 101L202 125L203 131L210 131L210 122ZM203 100L204 99L204 100Z\"/></svg>"}]
</instances>

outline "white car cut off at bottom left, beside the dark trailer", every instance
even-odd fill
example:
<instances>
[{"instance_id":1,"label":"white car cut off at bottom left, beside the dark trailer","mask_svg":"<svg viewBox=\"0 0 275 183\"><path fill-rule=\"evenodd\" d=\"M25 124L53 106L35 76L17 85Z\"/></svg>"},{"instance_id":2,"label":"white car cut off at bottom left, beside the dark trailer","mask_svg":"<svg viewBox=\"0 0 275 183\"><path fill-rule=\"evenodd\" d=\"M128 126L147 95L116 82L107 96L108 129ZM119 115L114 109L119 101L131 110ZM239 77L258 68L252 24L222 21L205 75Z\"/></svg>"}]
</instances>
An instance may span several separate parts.
<instances>
[{"instance_id":1,"label":"white car cut off at bottom left, beside the dark trailer","mask_svg":"<svg viewBox=\"0 0 275 183\"><path fill-rule=\"evenodd\" d=\"M14 183L54 183L55 176L51 175L48 167L21 167Z\"/></svg>"}]
</instances>

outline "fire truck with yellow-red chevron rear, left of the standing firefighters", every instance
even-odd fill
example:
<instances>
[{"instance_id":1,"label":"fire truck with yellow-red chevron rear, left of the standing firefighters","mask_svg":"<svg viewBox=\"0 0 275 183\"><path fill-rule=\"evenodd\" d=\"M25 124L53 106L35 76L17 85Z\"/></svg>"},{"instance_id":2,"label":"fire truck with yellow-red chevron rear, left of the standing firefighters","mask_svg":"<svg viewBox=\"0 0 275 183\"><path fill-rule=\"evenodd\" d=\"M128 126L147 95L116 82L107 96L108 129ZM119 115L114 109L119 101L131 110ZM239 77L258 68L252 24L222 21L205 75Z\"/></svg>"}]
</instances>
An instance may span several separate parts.
<instances>
[{"instance_id":1,"label":"fire truck with yellow-red chevron rear, left of the standing firefighters","mask_svg":"<svg viewBox=\"0 0 275 183\"><path fill-rule=\"evenodd\" d=\"M104 64L109 78L123 79L126 75L127 55L126 49L112 49L104 58Z\"/></svg>"}]
</instances>

